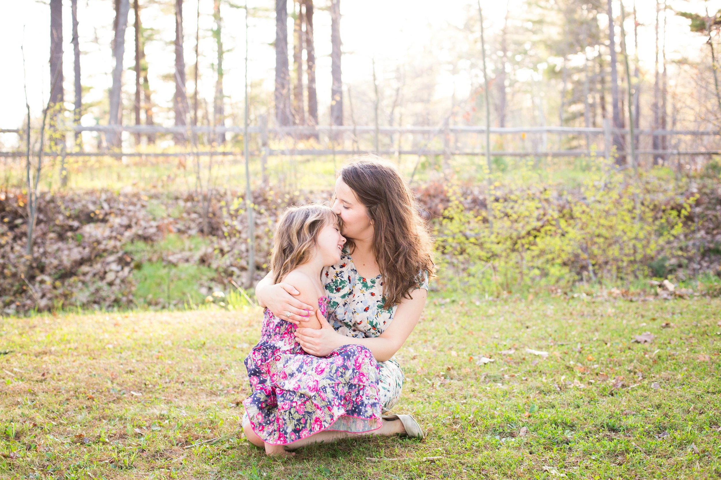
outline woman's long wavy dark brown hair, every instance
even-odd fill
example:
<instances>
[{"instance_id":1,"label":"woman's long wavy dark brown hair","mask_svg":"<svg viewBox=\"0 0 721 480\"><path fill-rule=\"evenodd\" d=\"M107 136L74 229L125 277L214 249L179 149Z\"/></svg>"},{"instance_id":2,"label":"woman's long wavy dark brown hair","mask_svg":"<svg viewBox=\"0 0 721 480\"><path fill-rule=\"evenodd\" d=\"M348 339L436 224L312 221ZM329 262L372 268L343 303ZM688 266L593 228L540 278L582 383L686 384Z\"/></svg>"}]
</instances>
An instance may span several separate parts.
<instances>
[{"instance_id":1,"label":"woman's long wavy dark brown hair","mask_svg":"<svg viewBox=\"0 0 721 480\"><path fill-rule=\"evenodd\" d=\"M340 177L368 209L373 253L383 275L383 308L410 298L423 273L433 276L433 240L410 188L394 164L379 156L356 157ZM353 239L348 239L353 253Z\"/></svg>"}]
</instances>

